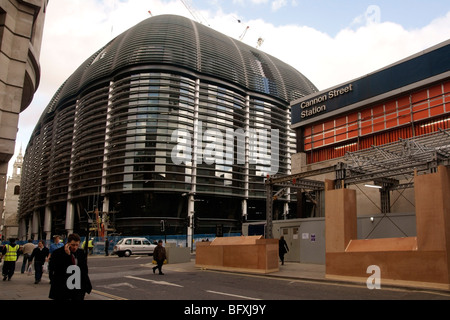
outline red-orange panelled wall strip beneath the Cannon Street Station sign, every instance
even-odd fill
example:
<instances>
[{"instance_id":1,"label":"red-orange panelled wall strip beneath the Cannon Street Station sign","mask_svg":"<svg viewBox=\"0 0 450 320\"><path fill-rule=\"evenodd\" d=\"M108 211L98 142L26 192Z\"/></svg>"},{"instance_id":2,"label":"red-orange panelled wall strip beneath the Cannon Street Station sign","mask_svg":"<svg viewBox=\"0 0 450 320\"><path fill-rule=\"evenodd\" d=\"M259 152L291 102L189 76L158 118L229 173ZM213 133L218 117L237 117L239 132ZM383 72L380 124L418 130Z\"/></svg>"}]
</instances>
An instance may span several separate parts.
<instances>
[{"instance_id":1,"label":"red-orange panelled wall strip beneath the Cannon Street Station sign","mask_svg":"<svg viewBox=\"0 0 450 320\"><path fill-rule=\"evenodd\" d=\"M450 127L450 81L305 127L308 163Z\"/></svg>"}]
</instances>

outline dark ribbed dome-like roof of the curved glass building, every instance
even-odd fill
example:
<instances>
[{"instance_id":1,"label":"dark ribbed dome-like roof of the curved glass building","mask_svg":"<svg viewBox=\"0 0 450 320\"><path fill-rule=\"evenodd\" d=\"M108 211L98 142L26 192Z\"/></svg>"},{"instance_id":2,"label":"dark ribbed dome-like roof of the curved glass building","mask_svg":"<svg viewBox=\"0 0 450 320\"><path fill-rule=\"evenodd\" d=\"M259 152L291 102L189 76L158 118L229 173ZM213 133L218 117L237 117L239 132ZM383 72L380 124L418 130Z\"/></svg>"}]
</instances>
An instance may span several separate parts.
<instances>
[{"instance_id":1,"label":"dark ribbed dome-like roof of the curved glass building","mask_svg":"<svg viewBox=\"0 0 450 320\"><path fill-rule=\"evenodd\" d=\"M130 68L164 66L203 74L290 102L317 92L299 71L279 59L205 25L176 15L148 18L89 57L64 82L46 112L84 88Z\"/></svg>"}]
</instances>

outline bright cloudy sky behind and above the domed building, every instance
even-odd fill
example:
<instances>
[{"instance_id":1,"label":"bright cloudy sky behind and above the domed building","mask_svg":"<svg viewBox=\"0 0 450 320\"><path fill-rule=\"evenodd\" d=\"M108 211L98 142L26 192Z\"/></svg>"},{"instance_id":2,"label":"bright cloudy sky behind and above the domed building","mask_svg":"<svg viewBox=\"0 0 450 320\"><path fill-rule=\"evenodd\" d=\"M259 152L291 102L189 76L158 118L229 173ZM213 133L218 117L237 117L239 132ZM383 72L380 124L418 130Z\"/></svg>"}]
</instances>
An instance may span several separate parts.
<instances>
[{"instance_id":1,"label":"bright cloudy sky behind and above the domed building","mask_svg":"<svg viewBox=\"0 0 450 320\"><path fill-rule=\"evenodd\" d=\"M51 0L41 79L20 114L25 153L42 112L95 51L144 19L177 14L290 64L319 90L348 82L450 39L448 0Z\"/></svg>"}]
</instances>

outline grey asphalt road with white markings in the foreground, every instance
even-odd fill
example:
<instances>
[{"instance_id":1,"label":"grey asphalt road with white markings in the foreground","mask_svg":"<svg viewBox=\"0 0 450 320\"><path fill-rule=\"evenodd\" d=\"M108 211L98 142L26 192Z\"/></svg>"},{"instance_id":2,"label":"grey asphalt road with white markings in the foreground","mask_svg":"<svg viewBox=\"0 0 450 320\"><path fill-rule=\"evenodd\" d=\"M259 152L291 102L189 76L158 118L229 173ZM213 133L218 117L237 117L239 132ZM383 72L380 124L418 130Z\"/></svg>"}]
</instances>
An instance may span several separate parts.
<instances>
[{"instance_id":1,"label":"grey asphalt road with white markings in the foreground","mask_svg":"<svg viewBox=\"0 0 450 320\"><path fill-rule=\"evenodd\" d=\"M89 273L95 292L115 300L186 300L192 301L192 306L222 300L247 303L264 300L450 300L450 293L444 292L402 288L369 290L364 285L200 270L192 264L165 265L165 275L158 275L158 271L152 272L151 262L148 256L90 259Z\"/></svg>"}]
</instances>

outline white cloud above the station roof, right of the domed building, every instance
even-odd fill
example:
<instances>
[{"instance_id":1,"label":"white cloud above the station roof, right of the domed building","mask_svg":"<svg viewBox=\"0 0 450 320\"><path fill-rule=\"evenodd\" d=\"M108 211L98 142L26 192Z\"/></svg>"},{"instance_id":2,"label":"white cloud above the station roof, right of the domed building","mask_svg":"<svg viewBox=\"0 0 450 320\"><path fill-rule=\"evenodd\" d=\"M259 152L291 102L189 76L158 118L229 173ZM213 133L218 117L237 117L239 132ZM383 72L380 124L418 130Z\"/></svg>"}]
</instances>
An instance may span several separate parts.
<instances>
[{"instance_id":1,"label":"white cloud above the station roof, right of the domed building","mask_svg":"<svg viewBox=\"0 0 450 320\"><path fill-rule=\"evenodd\" d=\"M450 12L412 31L392 22L367 23L343 29L334 37L305 26L248 23L245 42L254 45L263 37L263 51L298 69L319 89L361 77L450 39Z\"/></svg>"}]
</instances>

